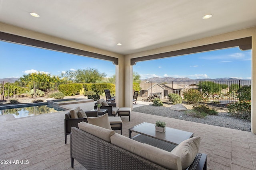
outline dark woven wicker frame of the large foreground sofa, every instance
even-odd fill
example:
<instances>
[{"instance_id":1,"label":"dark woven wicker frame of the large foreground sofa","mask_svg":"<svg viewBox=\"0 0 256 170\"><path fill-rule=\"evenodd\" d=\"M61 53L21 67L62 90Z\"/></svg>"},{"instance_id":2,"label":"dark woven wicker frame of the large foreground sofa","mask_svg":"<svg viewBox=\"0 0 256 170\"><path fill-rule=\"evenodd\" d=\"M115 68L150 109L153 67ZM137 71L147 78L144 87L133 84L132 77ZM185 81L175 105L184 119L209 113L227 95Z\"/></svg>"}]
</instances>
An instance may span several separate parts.
<instances>
[{"instance_id":1,"label":"dark woven wicker frame of the large foreground sofa","mask_svg":"<svg viewBox=\"0 0 256 170\"><path fill-rule=\"evenodd\" d=\"M94 135L72 127L70 137L71 167L74 159L88 170L166 170L166 168L146 160L132 152L112 145ZM195 158L195 170L206 170L206 154ZM195 163L192 164L195 164Z\"/></svg>"}]
</instances>

